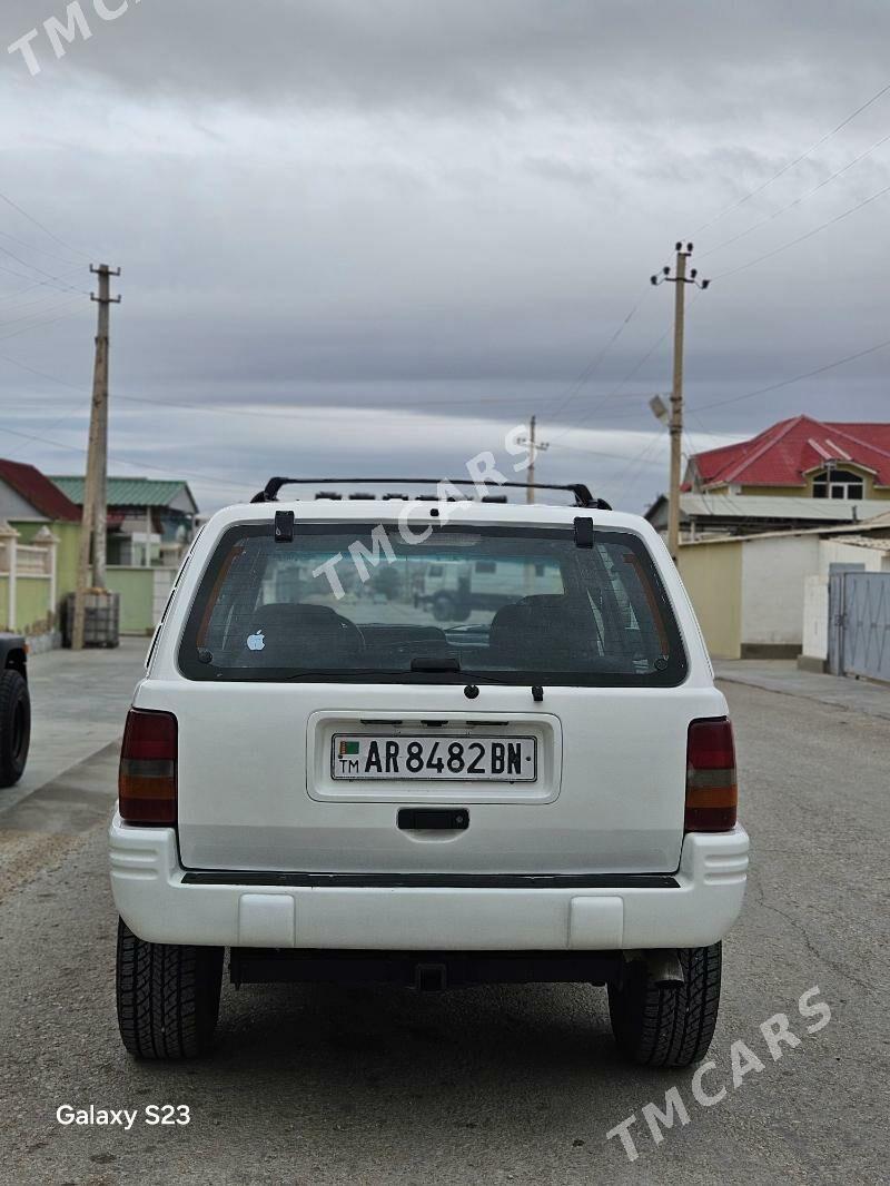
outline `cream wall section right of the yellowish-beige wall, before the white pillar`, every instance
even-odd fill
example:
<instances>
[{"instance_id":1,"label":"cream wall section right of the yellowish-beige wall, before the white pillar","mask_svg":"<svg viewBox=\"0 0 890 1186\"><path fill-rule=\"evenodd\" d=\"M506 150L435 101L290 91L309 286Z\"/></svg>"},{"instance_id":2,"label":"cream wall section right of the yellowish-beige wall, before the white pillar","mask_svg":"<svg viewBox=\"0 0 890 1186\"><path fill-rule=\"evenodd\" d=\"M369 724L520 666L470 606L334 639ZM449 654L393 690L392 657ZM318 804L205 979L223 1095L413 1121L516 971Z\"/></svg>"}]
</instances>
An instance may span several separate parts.
<instances>
[{"instance_id":1,"label":"cream wall section right of the yellowish-beige wall, before the white pillar","mask_svg":"<svg viewBox=\"0 0 890 1186\"><path fill-rule=\"evenodd\" d=\"M742 560L742 657L789 657L803 643L803 588L819 537L749 538Z\"/></svg>"}]
</instances>

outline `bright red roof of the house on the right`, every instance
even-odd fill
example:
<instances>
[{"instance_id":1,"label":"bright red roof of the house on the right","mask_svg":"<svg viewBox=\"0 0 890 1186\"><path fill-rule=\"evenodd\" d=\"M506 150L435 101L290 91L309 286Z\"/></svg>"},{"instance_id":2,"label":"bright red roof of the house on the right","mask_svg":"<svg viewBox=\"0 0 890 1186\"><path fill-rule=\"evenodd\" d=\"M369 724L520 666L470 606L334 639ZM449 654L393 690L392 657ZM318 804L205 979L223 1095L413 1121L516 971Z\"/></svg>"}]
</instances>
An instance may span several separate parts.
<instances>
[{"instance_id":1,"label":"bright red roof of the house on the right","mask_svg":"<svg viewBox=\"0 0 890 1186\"><path fill-rule=\"evenodd\" d=\"M890 486L890 423L867 425L795 416L781 420L750 441L693 457L704 486L803 486L805 474L827 460L853 461Z\"/></svg>"}]
</instances>

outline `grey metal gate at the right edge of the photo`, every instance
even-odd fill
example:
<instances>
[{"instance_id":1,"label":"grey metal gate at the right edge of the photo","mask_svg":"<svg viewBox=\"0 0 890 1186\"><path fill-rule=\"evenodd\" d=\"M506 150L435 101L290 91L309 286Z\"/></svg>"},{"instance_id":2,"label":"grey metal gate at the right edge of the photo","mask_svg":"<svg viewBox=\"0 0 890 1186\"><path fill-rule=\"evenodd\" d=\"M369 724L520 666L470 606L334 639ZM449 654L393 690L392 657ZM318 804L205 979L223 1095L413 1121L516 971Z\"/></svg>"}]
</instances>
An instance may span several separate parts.
<instances>
[{"instance_id":1,"label":"grey metal gate at the right edge of the photo","mask_svg":"<svg viewBox=\"0 0 890 1186\"><path fill-rule=\"evenodd\" d=\"M832 573L828 670L890 682L890 573Z\"/></svg>"}]
</instances>

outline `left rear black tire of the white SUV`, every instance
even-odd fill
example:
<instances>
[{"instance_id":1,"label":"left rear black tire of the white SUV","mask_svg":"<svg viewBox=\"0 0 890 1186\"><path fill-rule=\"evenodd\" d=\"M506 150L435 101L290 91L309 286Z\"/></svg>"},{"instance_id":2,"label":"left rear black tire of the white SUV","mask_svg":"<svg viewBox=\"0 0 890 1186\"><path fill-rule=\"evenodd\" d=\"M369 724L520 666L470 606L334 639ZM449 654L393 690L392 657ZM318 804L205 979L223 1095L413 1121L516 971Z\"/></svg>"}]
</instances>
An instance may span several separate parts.
<instances>
[{"instance_id":1,"label":"left rear black tire of the white SUV","mask_svg":"<svg viewBox=\"0 0 890 1186\"><path fill-rule=\"evenodd\" d=\"M134 1058L209 1053L220 1015L223 948L146 943L117 923L117 1024Z\"/></svg>"}]
</instances>

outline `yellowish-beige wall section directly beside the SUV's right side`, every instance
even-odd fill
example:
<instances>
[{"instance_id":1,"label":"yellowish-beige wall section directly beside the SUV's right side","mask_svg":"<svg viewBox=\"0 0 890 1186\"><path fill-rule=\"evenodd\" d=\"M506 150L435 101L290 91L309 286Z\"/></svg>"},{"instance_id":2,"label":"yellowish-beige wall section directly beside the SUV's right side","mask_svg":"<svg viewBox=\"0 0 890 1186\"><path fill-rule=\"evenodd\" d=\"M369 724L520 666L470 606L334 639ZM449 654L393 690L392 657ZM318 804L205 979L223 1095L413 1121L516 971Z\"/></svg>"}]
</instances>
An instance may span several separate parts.
<instances>
[{"instance_id":1,"label":"yellowish-beige wall section directly beside the SUV's right side","mask_svg":"<svg viewBox=\"0 0 890 1186\"><path fill-rule=\"evenodd\" d=\"M743 547L735 541L680 547L680 575L695 608L707 649L719 659L737 659L742 655Z\"/></svg>"}]
</instances>

